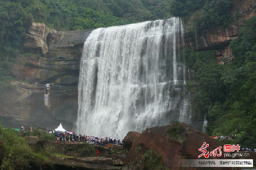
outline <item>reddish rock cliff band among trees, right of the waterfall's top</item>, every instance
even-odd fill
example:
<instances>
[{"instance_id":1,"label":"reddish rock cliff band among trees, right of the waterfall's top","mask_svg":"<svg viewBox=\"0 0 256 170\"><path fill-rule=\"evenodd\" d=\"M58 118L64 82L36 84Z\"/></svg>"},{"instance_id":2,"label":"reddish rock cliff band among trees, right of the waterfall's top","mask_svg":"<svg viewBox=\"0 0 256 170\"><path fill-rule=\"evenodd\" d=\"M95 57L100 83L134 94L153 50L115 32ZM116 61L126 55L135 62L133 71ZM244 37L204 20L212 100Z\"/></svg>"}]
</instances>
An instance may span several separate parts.
<instances>
[{"instance_id":1,"label":"reddish rock cliff band among trees, right of the waterfall's top","mask_svg":"<svg viewBox=\"0 0 256 170\"><path fill-rule=\"evenodd\" d=\"M237 21L226 28L217 26L202 32L186 33L185 45L193 51L216 50L219 60L222 57L232 60L227 46L232 39L238 38L239 29L245 25L245 20L256 15L255 8L256 2L253 0L234 0L230 13L238 17Z\"/></svg>"}]
</instances>

